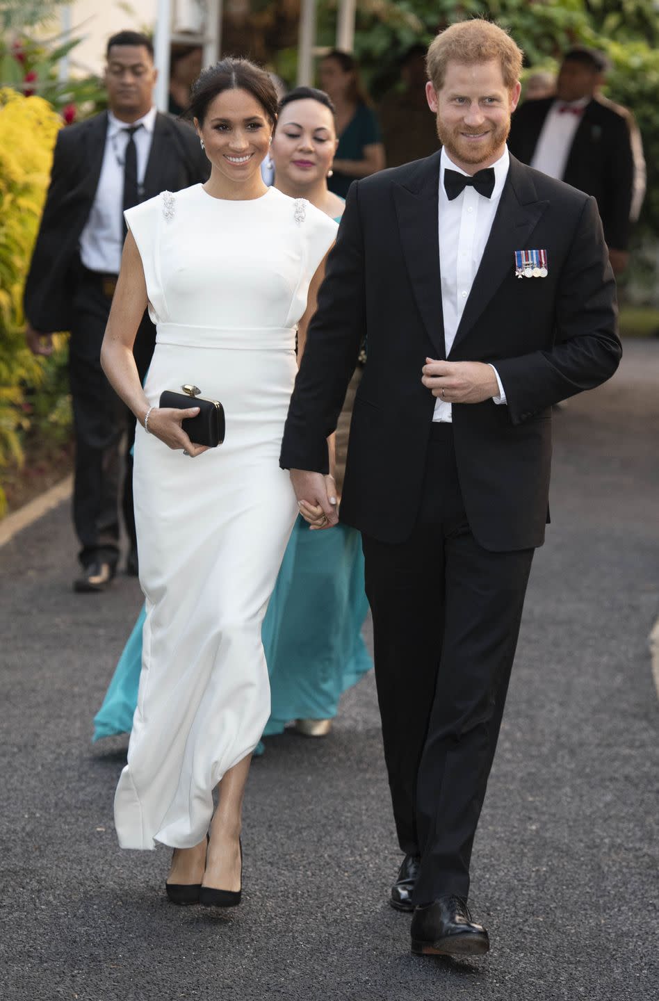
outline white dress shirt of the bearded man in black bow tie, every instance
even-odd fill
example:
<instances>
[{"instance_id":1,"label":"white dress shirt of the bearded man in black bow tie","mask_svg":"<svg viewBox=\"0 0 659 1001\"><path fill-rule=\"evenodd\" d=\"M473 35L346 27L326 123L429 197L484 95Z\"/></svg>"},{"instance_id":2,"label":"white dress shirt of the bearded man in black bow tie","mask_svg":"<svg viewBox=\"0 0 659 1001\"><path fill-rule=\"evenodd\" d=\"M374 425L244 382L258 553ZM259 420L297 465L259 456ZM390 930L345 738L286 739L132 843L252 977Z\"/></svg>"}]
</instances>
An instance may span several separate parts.
<instances>
[{"instance_id":1,"label":"white dress shirt of the bearded man in black bow tie","mask_svg":"<svg viewBox=\"0 0 659 1001\"><path fill-rule=\"evenodd\" d=\"M492 164L495 171L495 186L491 198L486 198L479 194L475 188L468 186L457 198L449 201L444 187L444 171L448 168L466 175L467 171L457 167L446 149L442 149L440 160L440 271L442 273L442 310L444 312L444 341L447 358L456 339L460 320L490 236L501 192L508 176L509 164L510 157L508 146L506 146L500 159ZM505 403L506 394L499 378L499 372L494 365L492 367L499 383L499 395L494 396L493 399L495 403ZM438 397L433 420L450 423L452 419L451 403Z\"/></svg>"}]
</instances>

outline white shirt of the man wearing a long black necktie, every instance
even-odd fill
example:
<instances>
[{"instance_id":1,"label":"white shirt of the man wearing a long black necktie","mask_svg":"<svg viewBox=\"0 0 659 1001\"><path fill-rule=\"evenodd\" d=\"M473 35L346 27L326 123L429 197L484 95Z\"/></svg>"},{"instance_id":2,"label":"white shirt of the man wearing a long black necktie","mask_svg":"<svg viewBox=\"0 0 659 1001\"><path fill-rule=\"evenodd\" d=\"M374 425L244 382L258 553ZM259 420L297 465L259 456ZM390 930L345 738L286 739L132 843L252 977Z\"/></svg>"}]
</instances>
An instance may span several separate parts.
<instances>
[{"instance_id":1,"label":"white shirt of the man wearing a long black necktie","mask_svg":"<svg viewBox=\"0 0 659 1001\"><path fill-rule=\"evenodd\" d=\"M132 125L141 125L133 136L137 153L137 183L142 184L151 152L157 108L147 111ZM118 274L123 249L123 175L131 126L107 115L107 135L98 187L89 218L80 234L80 259L90 271Z\"/></svg>"}]
</instances>

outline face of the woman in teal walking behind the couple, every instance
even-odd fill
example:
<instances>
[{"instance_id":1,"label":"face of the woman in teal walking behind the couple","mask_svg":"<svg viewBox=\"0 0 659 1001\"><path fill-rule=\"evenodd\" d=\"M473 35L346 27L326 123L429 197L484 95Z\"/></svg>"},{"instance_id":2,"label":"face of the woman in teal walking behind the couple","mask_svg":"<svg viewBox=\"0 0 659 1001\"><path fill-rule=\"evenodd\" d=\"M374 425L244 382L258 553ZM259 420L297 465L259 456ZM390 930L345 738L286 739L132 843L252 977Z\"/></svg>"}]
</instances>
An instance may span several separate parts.
<instances>
[{"instance_id":1,"label":"face of the woman in teal walking behind the couple","mask_svg":"<svg viewBox=\"0 0 659 1001\"><path fill-rule=\"evenodd\" d=\"M313 98L291 101L279 113L272 140L275 175L295 187L314 184L327 176L338 144L330 108Z\"/></svg>"}]
</instances>

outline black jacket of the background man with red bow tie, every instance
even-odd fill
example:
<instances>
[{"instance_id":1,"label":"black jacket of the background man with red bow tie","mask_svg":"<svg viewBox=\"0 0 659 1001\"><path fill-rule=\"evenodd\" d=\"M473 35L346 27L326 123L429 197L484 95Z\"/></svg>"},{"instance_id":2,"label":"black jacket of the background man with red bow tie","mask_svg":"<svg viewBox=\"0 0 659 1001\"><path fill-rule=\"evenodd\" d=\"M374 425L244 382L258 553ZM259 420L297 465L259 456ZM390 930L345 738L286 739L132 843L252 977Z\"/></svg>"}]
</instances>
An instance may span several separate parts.
<instances>
[{"instance_id":1,"label":"black jacket of the background man with red bow tie","mask_svg":"<svg viewBox=\"0 0 659 1001\"><path fill-rule=\"evenodd\" d=\"M553 97L527 101L513 115L508 145L523 163L531 163ZM634 155L628 121L594 98L586 105L575 132L563 180L592 194L610 247L629 242L634 193Z\"/></svg>"}]
</instances>

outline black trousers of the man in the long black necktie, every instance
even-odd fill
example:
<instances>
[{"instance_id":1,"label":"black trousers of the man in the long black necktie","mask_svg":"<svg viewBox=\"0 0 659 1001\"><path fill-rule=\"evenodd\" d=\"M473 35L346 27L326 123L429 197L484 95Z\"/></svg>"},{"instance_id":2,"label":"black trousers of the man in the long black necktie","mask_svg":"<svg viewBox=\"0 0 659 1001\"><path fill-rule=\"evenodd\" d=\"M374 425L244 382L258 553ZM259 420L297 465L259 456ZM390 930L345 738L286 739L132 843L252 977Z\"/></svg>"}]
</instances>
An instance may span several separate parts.
<instances>
[{"instance_id":1,"label":"black trousers of the man in the long black necktie","mask_svg":"<svg viewBox=\"0 0 659 1001\"><path fill-rule=\"evenodd\" d=\"M112 389L100 364L112 291L112 276L79 269L73 297L69 381L75 433L73 522L83 567L97 560L116 567L122 481L126 532L131 545L135 545L130 454L135 418ZM155 327L145 313L133 349L141 379L149 366L154 344ZM122 439L127 442L123 456Z\"/></svg>"}]
</instances>

